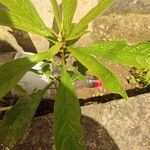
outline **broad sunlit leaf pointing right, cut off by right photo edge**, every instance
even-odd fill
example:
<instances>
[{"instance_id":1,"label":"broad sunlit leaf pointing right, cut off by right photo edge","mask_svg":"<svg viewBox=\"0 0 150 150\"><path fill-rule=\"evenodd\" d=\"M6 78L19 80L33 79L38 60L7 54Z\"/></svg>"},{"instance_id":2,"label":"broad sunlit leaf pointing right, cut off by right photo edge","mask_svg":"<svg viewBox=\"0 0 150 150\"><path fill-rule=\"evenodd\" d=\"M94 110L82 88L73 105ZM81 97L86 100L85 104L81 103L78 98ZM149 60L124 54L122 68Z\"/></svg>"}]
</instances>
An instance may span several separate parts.
<instances>
[{"instance_id":1,"label":"broad sunlit leaf pointing right, cut off by right photo edge","mask_svg":"<svg viewBox=\"0 0 150 150\"><path fill-rule=\"evenodd\" d=\"M103 57L116 63L150 69L150 42L131 45L123 41L109 41L81 49L84 49L89 54Z\"/></svg>"}]
</instances>

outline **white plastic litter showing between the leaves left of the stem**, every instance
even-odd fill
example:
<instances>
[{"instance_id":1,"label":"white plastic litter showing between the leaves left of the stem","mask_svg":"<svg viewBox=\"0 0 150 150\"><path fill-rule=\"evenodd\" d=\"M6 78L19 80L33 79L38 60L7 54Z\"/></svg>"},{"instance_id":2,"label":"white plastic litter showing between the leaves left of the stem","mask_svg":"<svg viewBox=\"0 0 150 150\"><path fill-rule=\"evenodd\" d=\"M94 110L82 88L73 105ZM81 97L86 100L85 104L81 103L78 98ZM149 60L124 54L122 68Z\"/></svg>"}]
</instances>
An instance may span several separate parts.
<instances>
[{"instance_id":1,"label":"white plastic litter showing between the leaves left of the stem","mask_svg":"<svg viewBox=\"0 0 150 150\"><path fill-rule=\"evenodd\" d=\"M22 58L25 56L32 55L33 53L23 52L17 53L14 59ZM41 69L41 63L35 65L32 69L39 70ZM51 68L50 68L51 69ZM26 92L27 94L31 94L34 90L42 90L48 84L50 84L51 80L45 75L38 75L32 71L28 71L24 77L18 83ZM21 96L19 92L12 90L11 94L13 96ZM56 90L54 88L47 90L45 95L43 96L44 99L54 99L56 95Z\"/></svg>"}]
</instances>

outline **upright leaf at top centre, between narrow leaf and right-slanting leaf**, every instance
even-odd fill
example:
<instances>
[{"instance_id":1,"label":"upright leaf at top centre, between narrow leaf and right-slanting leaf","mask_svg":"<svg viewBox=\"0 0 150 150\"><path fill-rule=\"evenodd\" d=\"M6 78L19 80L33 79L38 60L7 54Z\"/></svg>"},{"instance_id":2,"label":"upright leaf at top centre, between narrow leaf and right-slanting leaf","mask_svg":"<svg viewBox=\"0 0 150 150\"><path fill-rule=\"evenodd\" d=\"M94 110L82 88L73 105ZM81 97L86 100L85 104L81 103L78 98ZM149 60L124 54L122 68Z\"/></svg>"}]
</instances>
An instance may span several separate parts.
<instances>
[{"instance_id":1,"label":"upright leaf at top centre, between narrow leaf and right-slanting leaf","mask_svg":"<svg viewBox=\"0 0 150 150\"><path fill-rule=\"evenodd\" d=\"M77 0L62 0L63 29L69 31L77 7Z\"/></svg>"}]
</instances>

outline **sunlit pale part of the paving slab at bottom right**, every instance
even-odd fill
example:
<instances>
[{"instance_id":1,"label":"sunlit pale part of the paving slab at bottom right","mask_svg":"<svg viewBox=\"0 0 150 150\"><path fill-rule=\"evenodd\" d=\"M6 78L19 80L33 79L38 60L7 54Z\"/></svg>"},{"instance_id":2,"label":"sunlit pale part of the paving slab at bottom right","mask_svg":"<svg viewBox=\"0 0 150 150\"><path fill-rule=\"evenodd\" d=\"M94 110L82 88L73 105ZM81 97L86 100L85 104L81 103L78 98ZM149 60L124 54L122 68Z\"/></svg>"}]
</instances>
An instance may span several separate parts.
<instances>
[{"instance_id":1,"label":"sunlit pale part of the paving slab at bottom right","mask_svg":"<svg viewBox=\"0 0 150 150\"><path fill-rule=\"evenodd\" d=\"M150 94L92 104L82 108L83 114L105 127L120 150L150 149ZM89 111L91 110L91 111Z\"/></svg>"}]
</instances>

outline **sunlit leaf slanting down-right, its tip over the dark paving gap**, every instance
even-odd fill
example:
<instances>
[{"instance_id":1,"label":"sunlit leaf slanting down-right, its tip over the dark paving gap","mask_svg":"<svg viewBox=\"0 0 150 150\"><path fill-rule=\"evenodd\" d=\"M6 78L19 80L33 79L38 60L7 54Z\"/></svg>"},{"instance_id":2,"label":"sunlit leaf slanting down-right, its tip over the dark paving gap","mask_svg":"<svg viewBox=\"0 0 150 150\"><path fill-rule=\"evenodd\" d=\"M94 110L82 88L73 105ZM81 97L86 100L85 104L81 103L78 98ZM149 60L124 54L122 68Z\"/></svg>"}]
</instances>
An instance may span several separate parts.
<instances>
[{"instance_id":1,"label":"sunlit leaf slanting down-right, its tip over the dark paving gap","mask_svg":"<svg viewBox=\"0 0 150 150\"><path fill-rule=\"evenodd\" d=\"M117 80L116 76L109 71L104 65L102 65L94 56L88 54L86 51L77 48L70 48L69 50L73 55L86 67L91 73L93 73L98 79L100 79L105 88L111 90L114 93L122 95L127 98L127 94L124 88Z\"/></svg>"}]
</instances>

